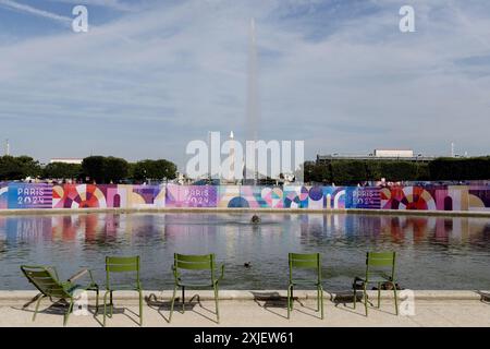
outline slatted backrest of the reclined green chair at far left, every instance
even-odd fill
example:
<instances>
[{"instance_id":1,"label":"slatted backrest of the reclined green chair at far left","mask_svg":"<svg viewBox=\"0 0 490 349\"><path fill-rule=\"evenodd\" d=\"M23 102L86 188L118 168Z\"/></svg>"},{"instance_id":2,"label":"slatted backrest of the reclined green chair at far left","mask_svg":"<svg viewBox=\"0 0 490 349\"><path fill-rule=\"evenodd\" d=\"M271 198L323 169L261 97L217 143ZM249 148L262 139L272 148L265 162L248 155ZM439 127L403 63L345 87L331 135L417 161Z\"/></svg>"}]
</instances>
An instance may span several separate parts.
<instances>
[{"instance_id":1,"label":"slatted backrest of the reclined green chair at far left","mask_svg":"<svg viewBox=\"0 0 490 349\"><path fill-rule=\"evenodd\" d=\"M21 265L21 270L39 292L50 298L70 298L70 293L64 289L58 279L54 267L41 265Z\"/></svg>"}]
</instances>

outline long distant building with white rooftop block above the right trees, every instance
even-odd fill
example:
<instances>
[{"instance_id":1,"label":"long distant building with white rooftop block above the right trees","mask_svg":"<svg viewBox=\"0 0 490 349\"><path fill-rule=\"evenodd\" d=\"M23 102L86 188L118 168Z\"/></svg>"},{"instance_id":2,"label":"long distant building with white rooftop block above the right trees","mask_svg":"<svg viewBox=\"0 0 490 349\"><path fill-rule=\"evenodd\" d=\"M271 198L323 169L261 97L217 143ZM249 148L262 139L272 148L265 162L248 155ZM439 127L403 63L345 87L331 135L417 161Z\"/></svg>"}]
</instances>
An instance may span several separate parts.
<instances>
[{"instance_id":1,"label":"long distant building with white rooftop block above the right trees","mask_svg":"<svg viewBox=\"0 0 490 349\"><path fill-rule=\"evenodd\" d=\"M415 155L412 149L375 149L368 155L358 154L331 154L317 155L317 165L324 165L332 160L403 160L414 163L428 163L433 160L433 156L424 156L421 154Z\"/></svg>"}]
</instances>

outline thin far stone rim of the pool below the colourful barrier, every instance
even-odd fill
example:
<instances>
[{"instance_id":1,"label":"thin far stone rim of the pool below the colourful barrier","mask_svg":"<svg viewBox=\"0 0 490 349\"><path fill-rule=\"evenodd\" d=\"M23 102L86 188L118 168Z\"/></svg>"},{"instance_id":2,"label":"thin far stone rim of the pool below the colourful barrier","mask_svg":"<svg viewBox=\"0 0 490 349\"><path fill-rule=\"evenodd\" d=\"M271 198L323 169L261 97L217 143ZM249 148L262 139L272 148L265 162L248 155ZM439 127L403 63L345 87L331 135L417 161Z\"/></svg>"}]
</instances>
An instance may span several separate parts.
<instances>
[{"instance_id":1,"label":"thin far stone rim of the pool below the colourful barrier","mask_svg":"<svg viewBox=\"0 0 490 349\"><path fill-rule=\"evenodd\" d=\"M490 217L490 212L478 210L406 210L372 208L231 208L231 207L149 207L149 208L37 208L37 209L0 209L0 216L28 215L70 215L90 213L269 213L269 214L363 214L363 215L406 215L406 216L444 216L444 217Z\"/></svg>"}]
</instances>

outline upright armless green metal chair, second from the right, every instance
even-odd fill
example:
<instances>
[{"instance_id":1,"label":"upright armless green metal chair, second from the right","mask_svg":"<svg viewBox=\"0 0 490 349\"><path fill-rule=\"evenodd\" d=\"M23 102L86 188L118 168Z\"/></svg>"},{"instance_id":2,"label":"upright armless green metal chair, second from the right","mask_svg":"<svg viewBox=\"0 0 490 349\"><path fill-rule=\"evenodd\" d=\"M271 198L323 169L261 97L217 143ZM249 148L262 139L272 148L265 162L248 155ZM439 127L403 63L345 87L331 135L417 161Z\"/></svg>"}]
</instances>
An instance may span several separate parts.
<instances>
[{"instance_id":1,"label":"upright armless green metal chair, second from the right","mask_svg":"<svg viewBox=\"0 0 490 349\"><path fill-rule=\"evenodd\" d=\"M291 316L291 311L293 310L294 297L293 290L296 285L315 286L317 288L317 312L321 309L321 318L323 318L323 287L321 286L321 263L320 253L290 253L290 284L287 286L287 318ZM317 279L316 280L294 280L293 269L316 269Z\"/></svg>"}]
</instances>

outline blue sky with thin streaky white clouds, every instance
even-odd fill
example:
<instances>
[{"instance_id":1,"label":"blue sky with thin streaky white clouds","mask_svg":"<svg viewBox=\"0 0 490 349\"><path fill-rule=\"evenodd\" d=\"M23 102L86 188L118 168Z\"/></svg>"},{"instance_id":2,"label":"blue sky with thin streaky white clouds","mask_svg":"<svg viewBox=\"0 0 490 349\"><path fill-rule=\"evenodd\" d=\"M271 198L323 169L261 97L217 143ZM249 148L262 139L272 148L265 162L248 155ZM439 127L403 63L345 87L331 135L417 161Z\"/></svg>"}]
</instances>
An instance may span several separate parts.
<instances>
[{"instance_id":1,"label":"blue sky with thin streaky white clouds","mask_svg":"<svg viewBox=\"0 0 490 349\"><path fill-rule=\"evenodd\" d=\"M182 169L208 131L243 139L252 17L259 139L305 141L306 159L490 154L488 0L0 0L2 153Z\"/></svg>"}]
</instances>

